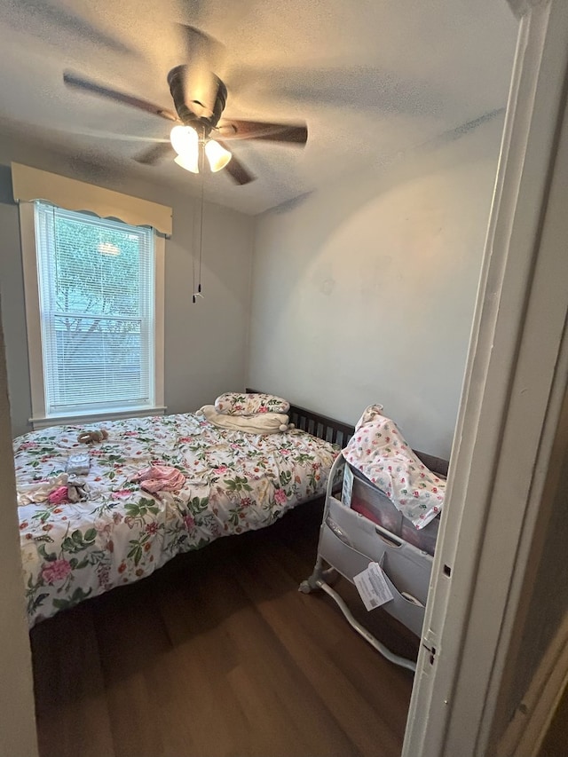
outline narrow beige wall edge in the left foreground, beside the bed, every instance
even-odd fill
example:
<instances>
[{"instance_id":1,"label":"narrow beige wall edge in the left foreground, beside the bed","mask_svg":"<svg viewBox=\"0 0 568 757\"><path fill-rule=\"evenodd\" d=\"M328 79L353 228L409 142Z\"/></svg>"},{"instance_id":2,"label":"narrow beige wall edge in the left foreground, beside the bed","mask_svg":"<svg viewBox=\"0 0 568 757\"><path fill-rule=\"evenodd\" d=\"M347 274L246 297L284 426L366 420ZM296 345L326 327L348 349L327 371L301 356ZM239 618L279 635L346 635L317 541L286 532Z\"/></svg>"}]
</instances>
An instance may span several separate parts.
<instances>
[{"instance_id":1,"label":"narrow beige wall edge in the left foreground, beside the bed","mask_svg":"<svg viewBox=\"0 0 568 757\"><path fill-rule=\"evenodd\" d=\"M16 501L10 409L0 319L0 476L6 502ZM36 722L28 620L24 603L18 511L4 508L0 528L0 755L36 757Z\"/></svg>"}]
</instances>

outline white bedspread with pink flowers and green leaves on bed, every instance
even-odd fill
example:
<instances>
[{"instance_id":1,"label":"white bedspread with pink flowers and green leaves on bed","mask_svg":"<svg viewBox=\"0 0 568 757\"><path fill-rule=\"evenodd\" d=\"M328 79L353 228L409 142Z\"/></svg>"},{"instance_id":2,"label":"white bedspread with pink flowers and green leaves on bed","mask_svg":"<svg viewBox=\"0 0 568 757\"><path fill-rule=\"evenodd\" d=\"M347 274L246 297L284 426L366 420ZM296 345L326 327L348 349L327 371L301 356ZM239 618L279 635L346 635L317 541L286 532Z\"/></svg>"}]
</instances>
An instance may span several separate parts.
<instances>
[{"instance_id":1,"label":"white bedspread with pink flowers and green leaves on bed","mask_svg":"<svg viewBox=\"0 0 568 757\"><path fill-rule=\"evenodd\" d=\"M79 444L85 428L108 438ZM20 505L30 626L219 536L271 524L325 492L338 450L300 430L242 434L193 414L33 431L14 441L19 499L57 480L70 454L88 451L88 500ZM132 481L150 464L185 476L176 492L146 493ZM41 485L38 485L41 489Z\"/></svg>"}]
</instances>

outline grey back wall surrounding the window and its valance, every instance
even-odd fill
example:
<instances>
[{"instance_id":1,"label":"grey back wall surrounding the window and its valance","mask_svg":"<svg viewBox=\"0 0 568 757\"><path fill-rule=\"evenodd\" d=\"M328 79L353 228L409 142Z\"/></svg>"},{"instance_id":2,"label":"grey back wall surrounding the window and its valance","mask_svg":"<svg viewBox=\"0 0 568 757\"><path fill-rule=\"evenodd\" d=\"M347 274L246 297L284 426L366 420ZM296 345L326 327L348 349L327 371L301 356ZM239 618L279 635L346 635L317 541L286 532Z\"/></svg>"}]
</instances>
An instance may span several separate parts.
<instances>
[{"instance_id":1,"label":"grey back wall surrounding the window and its valance","mask_svg":"<svg viewBox=\"0 0 568 757\"><path fill-rule=\"evenodd\" d=\"M165 263L168 412L192 411L213 402L223 391L243 388L254 218L206 203L202 255L205 299L193 305L193 215L197 219L198 201L189 194L134 180L122 168L101 172L95 164L77 162L0 135L0 293L14 434L29 430L31 400L19 213L12 199L12 161L171 206L173 234L166 241Z\"/></svg>"}]
</instances>

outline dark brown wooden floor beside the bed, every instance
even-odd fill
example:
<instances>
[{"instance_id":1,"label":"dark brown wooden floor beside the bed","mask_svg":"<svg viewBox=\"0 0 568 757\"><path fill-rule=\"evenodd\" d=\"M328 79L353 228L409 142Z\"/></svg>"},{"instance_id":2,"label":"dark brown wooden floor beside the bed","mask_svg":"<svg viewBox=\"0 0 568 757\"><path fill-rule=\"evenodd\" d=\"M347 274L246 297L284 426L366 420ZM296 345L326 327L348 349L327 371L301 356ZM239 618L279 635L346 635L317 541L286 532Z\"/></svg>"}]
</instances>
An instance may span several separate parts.
<instances>
[{"instance_id":1,"label":"dark brown wooden floor beside the bed","mask_svg":"<svg viewBox=\"0 0 568 757\"><path fill-rule=\"evenodd\" d=\"M412 674L326 595L297 591L320 512L217 540L32 629L41 757L399 755ZM415 657L382 610L361 617Z\"/></svg>"}]
</instances>

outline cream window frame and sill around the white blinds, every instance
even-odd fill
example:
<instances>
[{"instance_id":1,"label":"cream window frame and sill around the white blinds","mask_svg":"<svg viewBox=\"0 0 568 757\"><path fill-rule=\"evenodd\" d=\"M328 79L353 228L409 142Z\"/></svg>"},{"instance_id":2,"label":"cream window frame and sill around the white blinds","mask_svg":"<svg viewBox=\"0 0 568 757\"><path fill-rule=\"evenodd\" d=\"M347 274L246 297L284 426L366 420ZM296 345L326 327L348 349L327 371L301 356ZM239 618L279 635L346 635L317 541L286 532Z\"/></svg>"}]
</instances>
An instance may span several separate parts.
<instances>
[{"instance_id":1,"label":"cream window frame and sill around the white blinds","mask_svg":"<svg viewBox=\"0 0 568 757\"><path fill-rule=\"evenodd\" d=\"M80 211L75 211L80 212ZM129 224L125 224L129 225ZM117 420L141 415L164 414L164 258L165 239L154 233L154 405L125 410L102 410L89 413L51 414L45 410L43 382L43 344L36 252L36 203L20 201L20 238L24 274L28 361L32 415L28 419L34 430L59 423Z\"/></svg>"}]
</instances>

